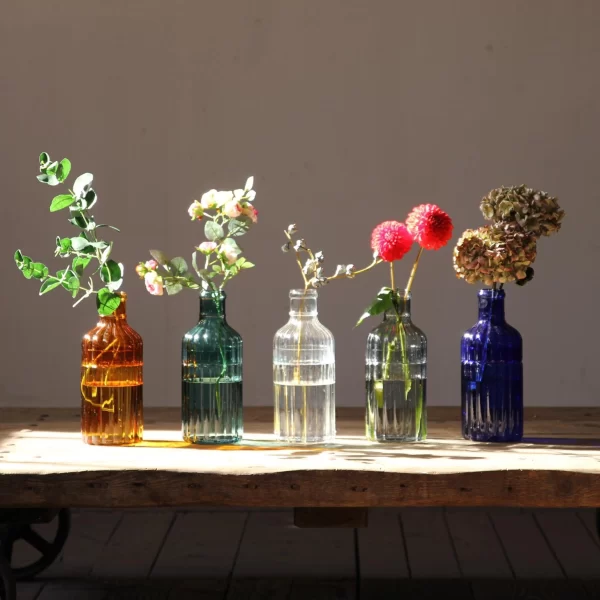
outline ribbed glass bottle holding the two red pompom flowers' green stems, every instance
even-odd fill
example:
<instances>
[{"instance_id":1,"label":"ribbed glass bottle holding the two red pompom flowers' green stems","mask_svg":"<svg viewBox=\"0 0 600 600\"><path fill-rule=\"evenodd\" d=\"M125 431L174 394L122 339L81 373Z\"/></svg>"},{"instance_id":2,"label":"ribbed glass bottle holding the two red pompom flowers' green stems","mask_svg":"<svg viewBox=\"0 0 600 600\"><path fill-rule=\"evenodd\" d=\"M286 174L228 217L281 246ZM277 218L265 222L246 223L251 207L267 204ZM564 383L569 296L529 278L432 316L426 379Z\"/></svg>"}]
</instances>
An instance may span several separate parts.
<instances>
[{"instance_id":1,"label":"ribbed glass bottle holding the two red pompom flowers' green stems","mask_svg":"<svg viewBox=\"0 0 600 600\"><path fill-rule=\"evenodd\" d=\"M377 442L427 437L427 338L411 321L411 295L369 334L366 352L366 436Z\"/></svg>"}]
</instances>

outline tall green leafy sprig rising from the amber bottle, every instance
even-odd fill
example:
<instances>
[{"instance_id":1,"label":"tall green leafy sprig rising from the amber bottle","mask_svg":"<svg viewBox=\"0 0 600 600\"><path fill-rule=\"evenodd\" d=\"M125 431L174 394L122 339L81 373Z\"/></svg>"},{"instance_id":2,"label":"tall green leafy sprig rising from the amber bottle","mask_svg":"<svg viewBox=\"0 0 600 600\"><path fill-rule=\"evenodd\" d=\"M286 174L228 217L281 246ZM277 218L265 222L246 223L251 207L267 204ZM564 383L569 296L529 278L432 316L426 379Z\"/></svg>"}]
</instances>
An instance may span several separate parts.
<instances>
[{"instance_id":1,"label":"tall green leafy sprig rising from the amber bottle","mask_svg":"<svg viewBox=\"0 0 600 600\"><path fill-rule=\"evenodd\" d=\"M37 179L50 186L64 183L71 172L71 161L68 158L63 158L60 162L52 161L48 153L42 152L39 162L41 174ZM91 173L80 175L73 183L73 189L55 196L50 204L50 212L68 208L69 223L80 230L77 236L56 237L54 255L71 259L70 266L51 275L49 267L25 256L21 250L15 252L14 258L26 279L33 278L41 282L40 296L62 287L73 298L81 294L73 305L77 306L94 294L98 313L111 315L121 303L121 297L115 292L123 283L123 264L110 258L113 242L99 239L98 229L110 227L115 231L119 230L112 225L97 224L94 220L90 210L98 201L98 195L92 188L93 180L94 176ZM97 266L93 273L87 276L87 284L84 285L84 271L91 262L97 262ZM94 276L97 274L102 282L98 289L94 287Z\"/></svg>"}]
</instances>

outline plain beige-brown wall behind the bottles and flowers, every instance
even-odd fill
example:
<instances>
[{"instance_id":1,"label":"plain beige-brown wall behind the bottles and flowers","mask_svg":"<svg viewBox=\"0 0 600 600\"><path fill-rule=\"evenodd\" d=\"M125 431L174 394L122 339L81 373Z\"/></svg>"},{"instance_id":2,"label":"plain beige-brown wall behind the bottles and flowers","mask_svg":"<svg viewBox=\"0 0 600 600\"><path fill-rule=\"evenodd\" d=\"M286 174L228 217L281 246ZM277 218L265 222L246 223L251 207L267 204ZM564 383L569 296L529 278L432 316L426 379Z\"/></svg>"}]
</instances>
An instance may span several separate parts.
<instances>
[{"instance_id":1,"label":"plain beige-brown wall behind the bottles and flowers","mask_svg":"<svg viewBox=\"0 0 600 600\"><path fill-rule=\"evenodd\" d=\"M189 256L202 239L191 200L249 174L260 224L243 242L258 267L228 289L248 405L271 403L272 337L300 282L279 250L284 226L298 223L329 267L360 265L379 221L435 202L460 234L482 221L484 193L522 182L568 213L540 243L537 279L508 290L526 403L595 404L599 26L597 0L4 0L1 403L77 406L79 340L95 322L91 302L38 298L12 262L16 247L49 259L70 231L35 180L46 150L95 174L97 217L122 228L114 255L145 341L148 405L179 403L197 299L150 297L133 267L150 247ZM409 262L398 266L407 278ZM321 293L340 405L364 401L369 325L353 324L386 282L382 268ZM431 404L459 402L476 291L454 278L450 247L424 257L414 319L429 338Z\"/></svg>"}]
</instances>

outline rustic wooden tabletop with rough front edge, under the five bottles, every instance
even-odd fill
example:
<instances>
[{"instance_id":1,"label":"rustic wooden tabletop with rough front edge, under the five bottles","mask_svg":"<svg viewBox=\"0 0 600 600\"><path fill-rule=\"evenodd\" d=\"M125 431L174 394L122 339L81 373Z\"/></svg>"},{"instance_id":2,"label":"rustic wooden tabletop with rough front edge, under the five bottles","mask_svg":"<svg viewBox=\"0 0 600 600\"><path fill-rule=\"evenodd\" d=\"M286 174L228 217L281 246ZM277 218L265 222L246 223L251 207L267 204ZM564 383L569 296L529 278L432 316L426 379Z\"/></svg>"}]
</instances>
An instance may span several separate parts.
<instances>
[{"instance_id":1,"label":"rustic wooden tabletop with rough front edge, under the five bottles","mask_svg":"<svg viewBox=\"0 0 600 600\"><path fill-rule=\"evenodd\" d=\"M177 408L147 409L144 442L95 447L75 409L2 409L0 506L600 506L600 410L527 410L514 445L467 442L458 419L431 408L427 442L372 444L342 408L337 444L290 447L248 408L243 443L210 447L180 441Z\"/></svg>"}]
</instances>

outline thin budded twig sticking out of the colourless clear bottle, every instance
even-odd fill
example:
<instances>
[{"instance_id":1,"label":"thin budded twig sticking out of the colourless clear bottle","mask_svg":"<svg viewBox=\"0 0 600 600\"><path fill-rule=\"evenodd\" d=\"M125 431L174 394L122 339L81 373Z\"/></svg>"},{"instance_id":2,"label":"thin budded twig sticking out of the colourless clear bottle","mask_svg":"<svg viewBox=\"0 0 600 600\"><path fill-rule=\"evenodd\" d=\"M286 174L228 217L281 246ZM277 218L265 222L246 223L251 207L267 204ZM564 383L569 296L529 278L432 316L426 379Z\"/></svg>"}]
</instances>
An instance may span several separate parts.
<instances>
[{"instance_id":1,"label":"thin budded twig sticking out of the colourless clear bottle","mask_svg":"<svg viewBox=\"0 0 600 600\"><path fill-rule=\"evenodd\" d=\"M283 232L287 237L288 241L281 247L283 252L294 251L296 254L296 262L300 268L300 274L304 281L304 289L309 287L319 288L334 279L353 279L356 275L360 275L365 271L368 271L378 265L381 259L375 254L373 256L373 262L365 267L364 269L356 270L356 267L352 264L348 265L337 265L333 275L325 275L323 263L325 262L325 255L321 250L313 252L307 245L304 239L294 240L294 235L298 233L298 227L295 224L288 225L288 228ZM304 261L302 254L308 255L308 258Z\"/></svg>"}]
</instances>

